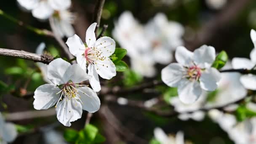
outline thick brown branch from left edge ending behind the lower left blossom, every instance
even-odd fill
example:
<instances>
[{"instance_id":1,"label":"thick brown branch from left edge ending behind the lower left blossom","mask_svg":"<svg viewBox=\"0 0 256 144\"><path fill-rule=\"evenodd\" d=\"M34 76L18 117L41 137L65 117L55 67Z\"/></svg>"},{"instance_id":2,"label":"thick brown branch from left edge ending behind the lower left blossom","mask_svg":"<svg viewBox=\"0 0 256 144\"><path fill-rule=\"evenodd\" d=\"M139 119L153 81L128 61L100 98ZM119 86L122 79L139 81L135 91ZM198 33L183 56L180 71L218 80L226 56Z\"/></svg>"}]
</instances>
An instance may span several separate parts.
<instances>
[{"instance_id":1,"label":"thick brown branch from left edge ending behind the lower left blossom","mask_svg":"<svg viewBox=\"0 0 256 144\"><path fill-rule=\"evenodd\" d=\"M5 48L0 48L0 56L12 56L21 59L32 60L35 62L42 62L44 64L49 64L51 61L53 61L53 56L47 54L39 55L36 53L29 53L27 51L18 51Z\"/></svg>"}]
</instances>

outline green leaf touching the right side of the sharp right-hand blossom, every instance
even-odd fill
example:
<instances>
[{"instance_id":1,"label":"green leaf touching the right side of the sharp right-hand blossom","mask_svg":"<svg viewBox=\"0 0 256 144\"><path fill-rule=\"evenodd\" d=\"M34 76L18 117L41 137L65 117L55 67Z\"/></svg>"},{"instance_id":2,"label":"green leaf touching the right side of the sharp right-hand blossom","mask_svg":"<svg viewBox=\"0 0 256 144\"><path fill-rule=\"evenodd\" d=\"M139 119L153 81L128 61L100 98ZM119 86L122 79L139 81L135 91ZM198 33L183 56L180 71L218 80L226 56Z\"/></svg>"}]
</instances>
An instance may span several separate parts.
<instances>
[{"instance_id":1,"label":"green leaf touching the right side of the sharp right-hand blossom","mask_svg":"<svg viewBox=\"0 0 256 144\"><path fill-rule=\"evenodd\" d=\"M211 67L215 67L216 69L221 69L227 63L229 57L225 51L221 51L217 56L215 61L213 62Z\"/></svg>"}]
</instances>

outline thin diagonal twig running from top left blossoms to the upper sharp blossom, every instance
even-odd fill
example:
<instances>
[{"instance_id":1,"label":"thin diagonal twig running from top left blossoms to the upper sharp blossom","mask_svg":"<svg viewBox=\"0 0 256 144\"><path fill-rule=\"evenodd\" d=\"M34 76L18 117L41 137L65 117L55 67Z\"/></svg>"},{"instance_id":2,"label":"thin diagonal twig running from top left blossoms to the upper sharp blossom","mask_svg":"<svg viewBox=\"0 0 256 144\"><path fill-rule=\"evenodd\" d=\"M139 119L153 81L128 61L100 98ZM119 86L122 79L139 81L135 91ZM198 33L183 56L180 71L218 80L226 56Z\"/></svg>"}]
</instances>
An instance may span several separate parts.
<instances>
[{"instance_id":1,"label":"thin diagonal twig running from top left blossoms to the upper sharp blossom","mask_svg":"<svg viewBox=\"0 0 256 144\"><path fill-rule=\"evenodd\" d=\"M50 26L51 26L51 29L53 31L53 34L54 34L54 37L55 39L57 40L57 42L59 43L59 45L61 45L61 48L63 49L63 51L66 53L67 57L69 59L73 59L74 56L69 52L69 48L67 47L67 45L64 43L64 41L62 40L62 38L60 37L60 35L58 34L57 32L57 29L56 29L56 26L54 25L54 22L53 22L53 17L50 17L49 18L49 23L50 23ZM74 62L74 61L73 61Z\"/></svg>"}]
</instances>

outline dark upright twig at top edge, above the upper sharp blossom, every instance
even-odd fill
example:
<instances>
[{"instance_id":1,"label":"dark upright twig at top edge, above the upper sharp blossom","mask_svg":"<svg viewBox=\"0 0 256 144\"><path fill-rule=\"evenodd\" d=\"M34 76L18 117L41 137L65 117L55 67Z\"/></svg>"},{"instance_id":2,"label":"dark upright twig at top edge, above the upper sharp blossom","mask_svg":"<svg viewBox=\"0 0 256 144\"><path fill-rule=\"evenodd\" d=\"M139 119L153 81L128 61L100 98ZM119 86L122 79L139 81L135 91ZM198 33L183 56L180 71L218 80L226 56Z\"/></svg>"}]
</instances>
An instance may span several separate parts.
<instances>
[{"instance_id":1,"label":"dark upright twig at top edge, above the upper sharp blossom","mask_svg":"<svg viewBox=\"0 0 256 144\"><path fill-rule=\"evenodd\" d=\"M97 26L96 26L96 29L95 29L96 37L97 37L97 34L98 34L99 25L101 23L101 14L102 14L102 9L104 7L104 3L105 3L105 0L97 0L96 4L95 4L93 22L97 23Z\"/></svg>"}]
</instances>

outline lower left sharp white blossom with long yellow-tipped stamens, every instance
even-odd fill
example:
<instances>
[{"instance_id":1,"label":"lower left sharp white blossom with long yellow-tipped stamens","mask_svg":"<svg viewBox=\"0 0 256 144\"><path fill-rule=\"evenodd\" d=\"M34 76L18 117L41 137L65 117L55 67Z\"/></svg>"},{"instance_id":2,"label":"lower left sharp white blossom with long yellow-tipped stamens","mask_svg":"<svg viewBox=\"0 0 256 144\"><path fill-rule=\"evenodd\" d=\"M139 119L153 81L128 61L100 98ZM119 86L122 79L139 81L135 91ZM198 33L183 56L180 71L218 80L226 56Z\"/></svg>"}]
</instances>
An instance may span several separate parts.
<instances>
[{"instance_id":1,"label":"lower left sharp white blossom with long yellow-tipped stamens","mask_svg":"<svg viewBox=\"0 0 256 144\"><path fill-rule=\"evenodd\" d=\"M55 59L48 65L47 77L51 84L35 90L35 109L48 109L56 104L57 118L65 126L81 118L82 109L91 113L99 110L100 100L96 92L86 85L79 85L90 77L78 64Z\"/></svg>"}]
</instances>

